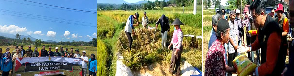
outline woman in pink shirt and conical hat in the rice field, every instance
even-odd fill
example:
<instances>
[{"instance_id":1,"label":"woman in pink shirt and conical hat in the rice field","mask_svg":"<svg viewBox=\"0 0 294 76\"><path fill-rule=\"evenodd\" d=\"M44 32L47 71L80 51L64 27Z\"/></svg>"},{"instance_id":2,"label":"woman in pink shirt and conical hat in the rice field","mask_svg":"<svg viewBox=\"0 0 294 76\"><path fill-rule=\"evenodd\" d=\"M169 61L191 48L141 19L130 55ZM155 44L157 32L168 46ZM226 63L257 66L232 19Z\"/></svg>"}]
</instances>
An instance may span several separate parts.
<instances>
[{"instance_id":1,"label":"woman in pink shirt and conical hat in the rice field","mask_svg":"<svg viewBox=\"0 0 294 76\"><path fill-rule=\"evenodd\" d=\"M173 49L169 72L176 76L180 76L180 58L183 51L183 31L180 25L184 24L177 18L171 25L174 25L174 33L170 45L168 46L168 48L172 46Z\"/></svg>"}]
</instances>

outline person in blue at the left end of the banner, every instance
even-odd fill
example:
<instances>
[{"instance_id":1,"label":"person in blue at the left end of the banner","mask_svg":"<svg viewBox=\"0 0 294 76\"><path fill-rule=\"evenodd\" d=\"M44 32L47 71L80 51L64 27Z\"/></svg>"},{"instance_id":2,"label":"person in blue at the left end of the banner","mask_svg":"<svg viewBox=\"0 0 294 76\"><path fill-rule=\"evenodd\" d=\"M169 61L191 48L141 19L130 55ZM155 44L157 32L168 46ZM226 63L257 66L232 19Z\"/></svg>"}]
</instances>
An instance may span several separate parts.
<instances>
[{"instance_id":1,"label":"person in blue at the left end of the banner","mask_svg":"<svg viewBox=\"0 0 294 76\"><path fill-rule=\"evenodd\" d=\"M2 76L8 76L9 71L12 69L12 62L11 62L11 53L9 51L6 52L6 56L3 58L2 64L1 64L1 71Z\"/></svg>"}]
</instances>

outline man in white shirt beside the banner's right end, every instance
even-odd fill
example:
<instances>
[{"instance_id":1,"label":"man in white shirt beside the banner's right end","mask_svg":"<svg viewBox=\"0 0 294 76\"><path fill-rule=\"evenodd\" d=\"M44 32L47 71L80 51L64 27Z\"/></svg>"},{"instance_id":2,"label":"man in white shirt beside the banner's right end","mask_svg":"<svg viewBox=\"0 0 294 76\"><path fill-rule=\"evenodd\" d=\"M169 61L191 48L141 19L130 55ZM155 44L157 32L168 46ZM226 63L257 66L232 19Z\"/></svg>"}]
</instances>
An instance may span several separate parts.
<instances>
[{"instance_id":1,"label":"man in white shirt beside the banner's right end","mask_svg":"<svg viewBox=\"0 0 294 76\"><path fill-rule=\"evenodd\" d=\"M87 64L89 62L88 57L86 56L86 51L83 50L82 51L82 56L80 57L80 59L82 59L82 76L86 76L87 75Z\"/></svg>"}]
</instances>

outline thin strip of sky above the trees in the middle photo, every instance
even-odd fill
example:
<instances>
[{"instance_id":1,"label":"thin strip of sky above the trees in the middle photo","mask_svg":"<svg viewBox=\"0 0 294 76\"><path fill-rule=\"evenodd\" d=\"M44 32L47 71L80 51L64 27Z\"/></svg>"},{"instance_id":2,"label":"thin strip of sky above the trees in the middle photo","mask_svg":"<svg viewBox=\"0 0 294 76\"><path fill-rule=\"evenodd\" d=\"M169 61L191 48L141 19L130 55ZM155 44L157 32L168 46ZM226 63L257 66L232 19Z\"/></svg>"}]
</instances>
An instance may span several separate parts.
<instances>
[{"instance_id":1,"label":"thin strip of sky above the trees in the middle photo","mask_svg":"<svg viewBox=\"0 0 294 76\"><path fill-rule=\"evenodd\" d=\"M124 0L128 3L136 3L139 1L143 1L143 0ZM145 0L145 1L156 1L156 0ZM158 0L158 1L162 1L162 0ZM115 3L115 2L119 2L118 0L97 0L97 3Z\"/></svg>"}]
</instances>

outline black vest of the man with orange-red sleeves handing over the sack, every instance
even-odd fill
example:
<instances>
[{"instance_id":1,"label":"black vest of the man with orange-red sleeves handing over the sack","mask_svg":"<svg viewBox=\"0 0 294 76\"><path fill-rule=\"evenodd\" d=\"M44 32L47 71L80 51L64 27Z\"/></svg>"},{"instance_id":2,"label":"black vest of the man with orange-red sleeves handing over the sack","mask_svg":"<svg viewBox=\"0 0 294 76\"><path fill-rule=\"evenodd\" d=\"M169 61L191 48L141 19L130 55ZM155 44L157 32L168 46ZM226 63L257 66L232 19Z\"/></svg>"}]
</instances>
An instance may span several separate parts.
<instances>
[{"instance_id":1,"label":"black vest of the man with orange-red sleeves handing over the sack","mask_svg":"<svg viewBox=\"0 0 294 76\"><path fill-rule=\"evenodd\" d=\"M262 28L258 29L258 40L259 40L259 46L261 47L261 64L266 62L266 52L267 52L267 42L270 34L274 31L277 33L280 33L279 35L282 36L282 31L279 28L278 23L275 22L272 18L269 16L266 17L266 23ZM282 39L282 38L281 38ZM282 41L282 40L281 40ZM270 42L270 41L269 41ZM283 44L281 43L280 46ZM285 68L285 59L286 59L287 50L279 50L278 52L278 60L276 65L274 65L274 70L271 74L266 76L280 76L283 69Z\"/></svg>"}]
</instances>

